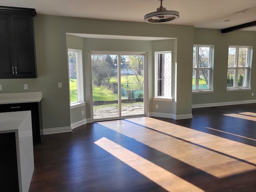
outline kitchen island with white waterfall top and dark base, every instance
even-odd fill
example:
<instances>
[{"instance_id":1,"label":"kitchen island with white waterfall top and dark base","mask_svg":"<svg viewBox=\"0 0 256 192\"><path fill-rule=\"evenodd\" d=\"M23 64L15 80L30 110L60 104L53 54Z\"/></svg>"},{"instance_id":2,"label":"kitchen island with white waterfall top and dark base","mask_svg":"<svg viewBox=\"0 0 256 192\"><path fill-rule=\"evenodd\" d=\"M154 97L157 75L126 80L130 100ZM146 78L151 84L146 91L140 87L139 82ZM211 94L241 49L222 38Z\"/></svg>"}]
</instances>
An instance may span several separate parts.
<instances>
[{"instance_id":1,"label":"kitchen island with white waterfall top and dark base","mask_svg":"<svg viewBox=\"0 0 256 192\"><path fill-rule=\"evenodd\" d=\"M0 189L28 192L34 172L31 111L0 113Z\"/></svg>"}]
</instances>

